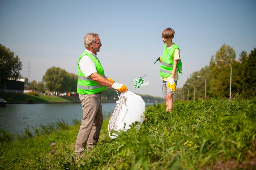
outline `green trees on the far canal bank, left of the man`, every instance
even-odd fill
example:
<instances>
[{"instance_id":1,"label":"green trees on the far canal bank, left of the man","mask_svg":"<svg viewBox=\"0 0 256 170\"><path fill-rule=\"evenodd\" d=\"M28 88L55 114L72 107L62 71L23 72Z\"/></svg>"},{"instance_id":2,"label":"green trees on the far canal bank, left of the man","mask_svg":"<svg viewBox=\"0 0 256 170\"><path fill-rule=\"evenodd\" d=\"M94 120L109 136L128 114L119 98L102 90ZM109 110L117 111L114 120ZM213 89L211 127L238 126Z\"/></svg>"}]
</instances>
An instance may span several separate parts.
<instances>
[{"instance_id":1,"label":"green trees on the far canal bank, left of the man","mask_svg":"<svg viewBox=\"0 0 256 170\"><path fill-rule=\"evenodd\" d=\"M8 79L17 80L23 78L20 74L22 62L18 55L0 44L0 88L1 91L6 87ZM32 80L29 82L25 77L25 90L38 90L44 93L45 90L55 92L76 92L78 76L67 72L60 67L51 67L47 69L42 81Z\"/></svg>"}]
</instances>

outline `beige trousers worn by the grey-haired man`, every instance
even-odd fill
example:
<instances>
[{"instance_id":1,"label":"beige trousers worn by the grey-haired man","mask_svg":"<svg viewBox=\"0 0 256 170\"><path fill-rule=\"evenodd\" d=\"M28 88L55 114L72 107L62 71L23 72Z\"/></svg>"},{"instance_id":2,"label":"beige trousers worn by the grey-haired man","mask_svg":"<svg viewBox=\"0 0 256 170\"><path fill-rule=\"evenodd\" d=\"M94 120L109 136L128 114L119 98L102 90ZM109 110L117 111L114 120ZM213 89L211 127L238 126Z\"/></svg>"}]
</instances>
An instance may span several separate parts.
<instances>
[{"instance_id":1,"label":"beige trousers worn by the grey-haired man","mask_svg":"<svg viewBox=\"0 0 256 170\"><path fill-rule=\"evenodd\" d=\"M86 144L92 148L99 140L103 123L100 94L79 95L83 109L83 119L76 139L75 152L83 152Z\"/></svg>"}]
</instances>

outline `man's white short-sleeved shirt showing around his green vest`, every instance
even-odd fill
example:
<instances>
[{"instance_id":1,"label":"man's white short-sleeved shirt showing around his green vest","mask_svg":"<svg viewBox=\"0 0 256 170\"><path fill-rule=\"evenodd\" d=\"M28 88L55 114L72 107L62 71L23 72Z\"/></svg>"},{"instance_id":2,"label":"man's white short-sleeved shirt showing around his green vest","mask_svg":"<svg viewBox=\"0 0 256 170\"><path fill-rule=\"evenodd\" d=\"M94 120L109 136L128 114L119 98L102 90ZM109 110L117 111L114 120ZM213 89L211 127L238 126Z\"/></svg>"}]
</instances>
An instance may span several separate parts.
<instances>
[{"instance_id":1,"label":"man's white short-sleeved shirt showing around his green vest","mask_svg":"<svg viewBox=\"0 0 256 170\"><path fill-rule=\"evenodd\" d=\"M92 56L98 60L96 54L92 53L87 49L85 49L85 51L92 54ZM78 65L82 73L86 76L86 78L89 78L92 73L97 73L96 66L93 60L88 55L83 56L78 62Z\"/></svg>"}]
</instances>

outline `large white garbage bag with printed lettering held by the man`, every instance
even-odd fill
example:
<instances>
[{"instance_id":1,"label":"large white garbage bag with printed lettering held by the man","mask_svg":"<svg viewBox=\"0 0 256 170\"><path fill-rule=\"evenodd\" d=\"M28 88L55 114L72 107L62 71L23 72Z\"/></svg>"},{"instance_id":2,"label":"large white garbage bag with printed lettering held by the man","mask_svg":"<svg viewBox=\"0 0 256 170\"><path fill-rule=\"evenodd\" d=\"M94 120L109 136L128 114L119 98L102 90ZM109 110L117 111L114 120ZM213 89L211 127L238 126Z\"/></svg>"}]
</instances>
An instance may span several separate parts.
<instances>
[{"instance_id":1,"label":"large white garbage bag with printed lettering held by the man","mask_svg":"<svg viewBox=\"0 0 256 170\"><path fill-rule=\"evenodd\" d=\"M124 130L128 130L130 128L129 125L132 125L133 122L137 121L142 124L144 121L144 112L145 102L139 95L131 91L121 93L119 100L116 101L115 110L108 123L109 137L111 139L116 138L116 136L110 135L110 132L123 128L125 123L126 126ZM138 128L140 129L140 126Z\"/></svg>"}]
</instances>

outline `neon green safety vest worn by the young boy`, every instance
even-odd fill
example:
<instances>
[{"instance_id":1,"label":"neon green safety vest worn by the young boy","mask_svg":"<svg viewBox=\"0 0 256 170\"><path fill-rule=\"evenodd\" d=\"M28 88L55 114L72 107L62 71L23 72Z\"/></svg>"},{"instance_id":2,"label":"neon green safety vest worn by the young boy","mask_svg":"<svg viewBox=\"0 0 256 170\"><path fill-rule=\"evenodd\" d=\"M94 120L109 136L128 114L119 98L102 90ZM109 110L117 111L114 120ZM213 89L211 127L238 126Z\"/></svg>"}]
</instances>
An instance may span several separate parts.
<instances>
[{"instance_id":1,"label":"neon green safety vest worn by the young boy","mask_svg":"<svg viewBox=\"0 0 256 170\"><path fill-rule=\"evenodd\" d=\"M170 49L166 49L167 48L167 44L164 45L164 51L163 51L163 55L162 55L162 62L161 62L161 66L160 66L160 75L162 77L170 77L172 74L172 69L173 69L173 53L174 50L176 48L178 48L180 50L180 48L178 47L178 45L176 45L175 43L173 44L173 46ZM178 68L178 72L181 73L181 60L179 59L178 63L177 63L177 68Z\"/></svg>"}]
</instances>

